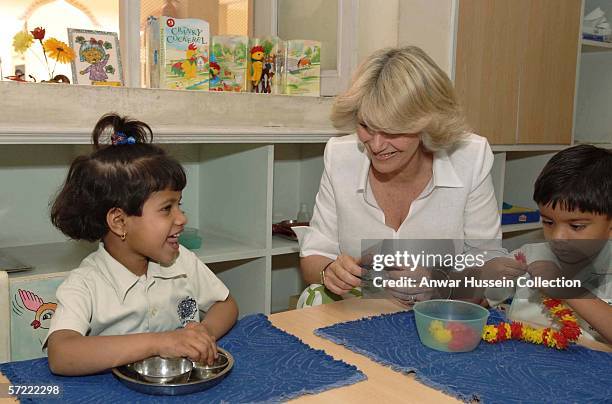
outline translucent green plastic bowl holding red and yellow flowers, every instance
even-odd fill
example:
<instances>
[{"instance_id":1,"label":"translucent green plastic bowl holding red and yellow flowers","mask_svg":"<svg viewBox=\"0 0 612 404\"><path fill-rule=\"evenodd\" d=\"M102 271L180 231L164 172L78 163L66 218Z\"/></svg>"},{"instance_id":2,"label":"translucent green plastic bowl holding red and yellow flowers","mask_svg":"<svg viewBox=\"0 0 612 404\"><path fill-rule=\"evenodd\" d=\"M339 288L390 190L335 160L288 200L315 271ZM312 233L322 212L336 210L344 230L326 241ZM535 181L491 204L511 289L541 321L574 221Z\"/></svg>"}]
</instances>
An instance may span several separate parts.
<instances>
[{"instance_id":1,"label":"translucent green plastic bowl holding red and yellow flowers","mask_svg":"<svg viewBox=\"0 0 612 404\"><path fill-rule=\"evenodd\" d=\"M489 310L460 300L427 300L413 307L423 345L444 352L469 352L480 343Z\"/></svg>"}]
</instances>

